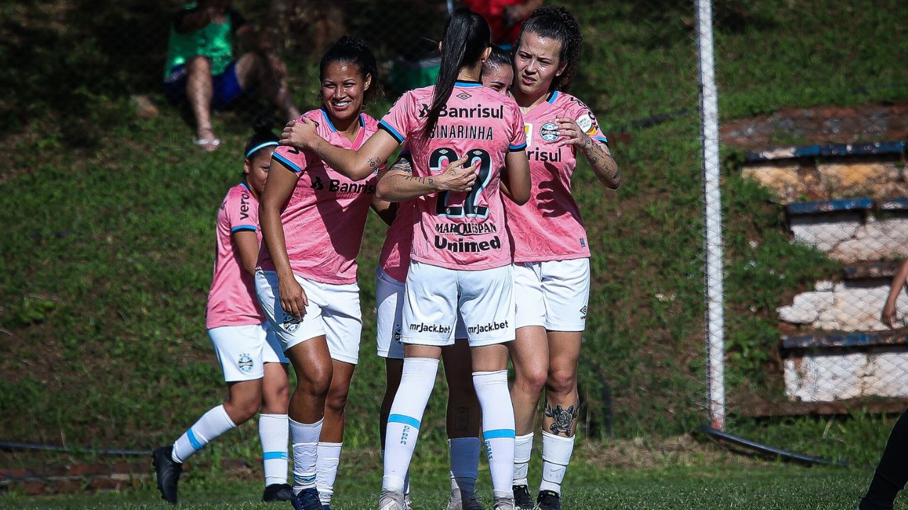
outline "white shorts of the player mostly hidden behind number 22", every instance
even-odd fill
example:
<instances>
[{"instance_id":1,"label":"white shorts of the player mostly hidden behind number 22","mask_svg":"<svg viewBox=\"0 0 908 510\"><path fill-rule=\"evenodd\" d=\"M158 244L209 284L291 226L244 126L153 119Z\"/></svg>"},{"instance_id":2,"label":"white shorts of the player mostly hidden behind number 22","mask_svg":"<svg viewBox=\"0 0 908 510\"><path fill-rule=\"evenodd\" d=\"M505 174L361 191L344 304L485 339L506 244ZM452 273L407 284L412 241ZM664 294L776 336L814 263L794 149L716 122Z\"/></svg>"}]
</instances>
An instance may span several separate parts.
<instances>
[{"instance_id":1,"label":"white shorts of the player mostly hidden behind number 22","mask_svg":"<svg viewBox=\"0 0 908 510\"><path fill-rule=\"evenodd\" d=\"M376 343L380 358L403 359L403 341L400 329L403 327L404 283L388 276L384 270L375 270L375 315L378 334ZM458 311L454 338L467 338Z\"/></svg>"}]
</instances>

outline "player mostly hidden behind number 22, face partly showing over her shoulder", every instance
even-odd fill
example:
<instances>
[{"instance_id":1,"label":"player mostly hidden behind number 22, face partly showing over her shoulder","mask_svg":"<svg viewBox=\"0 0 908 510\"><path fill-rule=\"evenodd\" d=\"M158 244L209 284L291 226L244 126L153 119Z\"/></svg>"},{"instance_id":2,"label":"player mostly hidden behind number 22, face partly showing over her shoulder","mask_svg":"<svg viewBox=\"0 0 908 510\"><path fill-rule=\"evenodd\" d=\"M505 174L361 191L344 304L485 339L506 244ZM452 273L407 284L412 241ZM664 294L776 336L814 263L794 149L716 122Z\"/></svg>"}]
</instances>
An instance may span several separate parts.
<instances>
[{"instance_id":1,"label":"player mostly hidden behind number 22, face partly showing over her shoulder","mask_svg":"<svg viewBox=\"0 0 908 510\"><path fill-rule=\"evenodd\" d=\"M482 66L482 84L507 94L513 81L514 72L510 55L494 46L489 59ZM406 147L390 170L412 172L410 152ZM403 371L403 342L400 338L403 326L404 280L410 266L410 240L413 235L412 207L413 201L398 204L397 216L388 230L384 246L381 248L379 268L376 270L377 345L379 356L385 358L387 381L380 414L382 450L391 403L397 393ZM481 510L482 505L474 495L479 467L479 400L470 383L472 364L469 361L467 331L460 319L455 327L454 336L455 345L441 351L449 391L446 428L451 497L448 510ZM408 484L406 489L409 488Z\"/></svg>"}]
</instances>

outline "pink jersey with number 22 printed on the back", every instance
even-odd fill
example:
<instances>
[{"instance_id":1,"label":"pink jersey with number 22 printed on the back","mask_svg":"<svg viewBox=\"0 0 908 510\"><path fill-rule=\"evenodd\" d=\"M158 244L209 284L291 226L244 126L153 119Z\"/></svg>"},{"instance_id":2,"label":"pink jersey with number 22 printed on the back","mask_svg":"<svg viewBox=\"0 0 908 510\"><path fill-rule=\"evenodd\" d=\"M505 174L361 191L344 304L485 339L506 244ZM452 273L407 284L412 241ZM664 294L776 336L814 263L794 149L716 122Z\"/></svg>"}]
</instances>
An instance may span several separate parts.
<instances>
[{"instance_id":1,"label":"pink jersey with number 22 printed on the back","mask_svg":"<svg viewBox=\"0 0 908 510\"><path fill-rule=\"evenodd\" d=\"M413 175L444 172L448 162L468 156L479 162L469 193L441 191L415 199L413 260L453 270L488 270L508 265L510 242L498 182L508 151L526 148L523 117L514 100L479 82L458 82L428 139L421 136L435 87L404 93L380 127L408 142Z\"/></svg>"}]
</instances>

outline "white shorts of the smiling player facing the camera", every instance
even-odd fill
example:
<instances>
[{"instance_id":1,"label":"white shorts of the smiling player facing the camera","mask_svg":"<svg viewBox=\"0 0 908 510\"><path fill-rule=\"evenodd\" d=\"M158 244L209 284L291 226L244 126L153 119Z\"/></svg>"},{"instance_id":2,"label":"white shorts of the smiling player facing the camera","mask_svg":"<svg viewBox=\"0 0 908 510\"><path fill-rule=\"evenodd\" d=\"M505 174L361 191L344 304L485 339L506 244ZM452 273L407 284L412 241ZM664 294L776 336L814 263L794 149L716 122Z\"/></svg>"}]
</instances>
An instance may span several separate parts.
<instances>
[{"instance_id":1,"label":"white shorts of the smiling player facing the camera","mask_svg":"<svg viewBox=\"0 0 908 510\"><path fill-rule=\"evenodd\" d=\"M278 275L274 271L255 271L255 291L268 323L284 351L310 338L328 338L331 359L351 363L360 359L362 312L360 286L356 283L333 285L293 275L306 292L309 306L302 319L294 319L281 309Z\"/></svg>"}]
</instances>

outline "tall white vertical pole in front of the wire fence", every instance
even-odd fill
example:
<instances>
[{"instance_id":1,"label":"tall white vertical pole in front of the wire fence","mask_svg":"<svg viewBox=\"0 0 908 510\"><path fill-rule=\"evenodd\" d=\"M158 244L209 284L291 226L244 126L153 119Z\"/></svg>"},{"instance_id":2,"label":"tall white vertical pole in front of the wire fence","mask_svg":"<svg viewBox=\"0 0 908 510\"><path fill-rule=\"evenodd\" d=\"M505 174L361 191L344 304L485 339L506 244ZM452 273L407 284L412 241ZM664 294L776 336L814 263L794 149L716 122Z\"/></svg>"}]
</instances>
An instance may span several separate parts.
<instances>
[{"instance_id":1,"label":"tall white vertical pole in front of the wire fence","mask_svg":"<svg viewBox=\"0 0 908 510\"><path fill-rule=\"evenodd\" d=\"M723 307L722 196L719 189L719 106L713 55L713 6L696 0L700 55L700 123L706 201L706 370L709 417L725 430L725 337Z\"/></svg>"}]
</instances>

